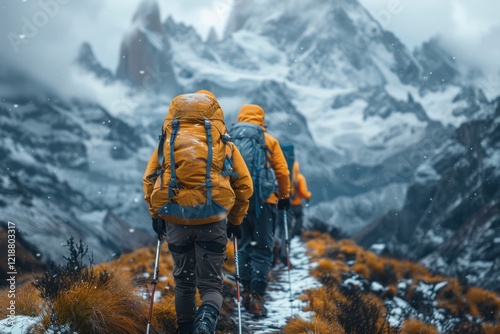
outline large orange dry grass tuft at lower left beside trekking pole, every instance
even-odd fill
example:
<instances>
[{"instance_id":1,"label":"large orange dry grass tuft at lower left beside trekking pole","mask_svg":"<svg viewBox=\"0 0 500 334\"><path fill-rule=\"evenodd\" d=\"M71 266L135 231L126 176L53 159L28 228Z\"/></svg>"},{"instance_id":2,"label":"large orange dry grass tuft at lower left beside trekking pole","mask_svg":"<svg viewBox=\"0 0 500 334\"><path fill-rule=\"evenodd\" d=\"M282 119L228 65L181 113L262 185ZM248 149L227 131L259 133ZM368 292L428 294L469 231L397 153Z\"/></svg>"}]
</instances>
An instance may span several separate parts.
<instances>
[{"instance_id":1,"label":"large orange dry grass tuft at lower left beside trekking pole","mask_svg":"<svg viewBox=\"0 0 500 334\"><path fill-rule=\"evenodd\" d=\"M51 304L57 317L51 319L51 315L46 314L41 332L50 325L69 325L72 331L79 333L143 332L147 302L140 297L129 275L118 272L109 275L104 283L98 284L94 279L60 293Z\"/></svg>"}]
</instances>

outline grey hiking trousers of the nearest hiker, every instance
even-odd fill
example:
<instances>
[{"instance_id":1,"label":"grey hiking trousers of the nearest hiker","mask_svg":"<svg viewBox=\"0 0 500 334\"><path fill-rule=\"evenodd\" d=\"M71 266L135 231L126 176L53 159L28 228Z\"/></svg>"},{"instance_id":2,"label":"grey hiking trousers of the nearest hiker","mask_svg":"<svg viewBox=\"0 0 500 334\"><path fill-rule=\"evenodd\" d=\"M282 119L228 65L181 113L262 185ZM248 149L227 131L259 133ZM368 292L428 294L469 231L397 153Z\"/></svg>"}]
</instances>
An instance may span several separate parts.
<instances>
[{"instance_id":1,"label":"grey hiking trousers of the nearest hiker","mask_svg":"<svg viewBox=\"0 0 500 334\"><path fill-rule=\"evenodd\" d=\"M168 249L174 260L177 322L194 321L196 288L203 304L222 307L222 267L226 257L226 220L206 225L167 223Z\"/></svg>"}]
</instances>

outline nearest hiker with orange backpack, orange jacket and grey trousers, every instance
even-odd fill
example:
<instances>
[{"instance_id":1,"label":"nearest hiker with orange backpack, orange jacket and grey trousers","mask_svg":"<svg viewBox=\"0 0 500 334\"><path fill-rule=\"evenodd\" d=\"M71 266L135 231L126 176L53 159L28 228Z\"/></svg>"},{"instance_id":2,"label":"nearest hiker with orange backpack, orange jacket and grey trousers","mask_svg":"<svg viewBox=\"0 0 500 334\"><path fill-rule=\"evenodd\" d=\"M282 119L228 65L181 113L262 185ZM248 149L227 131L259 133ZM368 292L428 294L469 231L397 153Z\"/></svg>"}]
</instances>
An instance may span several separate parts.
<instances>
[{"instance_id":1,"label":"nearest hiker with orange backpack, orange jacket and grey trousers","mask_svg":"<svg viewBox=\"0 0 500 334\"><path fill-rule=\"evenodd\" d=\"M224 113L211 92L174 98L163 131L144 173L144 199L174 262L176 333L215 333L227 238L241 238L252 178L227 140Z\"/></svg>"}]
</instances>

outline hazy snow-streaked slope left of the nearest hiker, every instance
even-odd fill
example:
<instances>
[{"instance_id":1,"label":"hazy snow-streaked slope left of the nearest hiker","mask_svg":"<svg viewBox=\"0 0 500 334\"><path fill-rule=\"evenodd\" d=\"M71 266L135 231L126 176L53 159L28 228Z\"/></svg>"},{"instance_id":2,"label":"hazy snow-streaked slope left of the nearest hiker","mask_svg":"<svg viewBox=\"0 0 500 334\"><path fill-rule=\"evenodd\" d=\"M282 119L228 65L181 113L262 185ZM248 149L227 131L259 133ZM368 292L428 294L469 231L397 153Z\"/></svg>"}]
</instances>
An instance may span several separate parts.
<instances>
[{"instance_id":1,"label":"hazy snow-streaked slope left of the nearest hiker","mask_svg":"<svg viewBox=\"0 0 500 334\"><path fill-rule=\"evenodd\" d=\"M0 223L14 222L43 261L61 260L51 245L70 236L84 239L97 261L149 244L138 129L15 70L2 72L0 86Z\"/></svg>"}]
</instances>

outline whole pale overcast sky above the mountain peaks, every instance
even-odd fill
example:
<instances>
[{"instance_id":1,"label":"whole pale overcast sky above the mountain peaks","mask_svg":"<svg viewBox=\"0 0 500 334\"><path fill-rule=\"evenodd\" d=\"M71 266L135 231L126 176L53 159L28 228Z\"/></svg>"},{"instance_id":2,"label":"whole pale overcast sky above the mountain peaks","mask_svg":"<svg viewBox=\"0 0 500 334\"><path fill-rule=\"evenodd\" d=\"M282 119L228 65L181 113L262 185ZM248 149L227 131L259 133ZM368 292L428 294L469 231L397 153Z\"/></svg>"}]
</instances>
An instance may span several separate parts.
<instances>
[{"instance_id":1,"label":"whole pale overcast sky above the mountain peaks","mask_svg":"<svg viewBox=\"0 0 500 334\"><path fill-rule=\"evenodd\" d=\"M324 1L324 0L318 0ZM333 0L332 0L333 1ZM457 58L500 68L499 0L359 0L385 29L410 49L441 35ZM116 69L124 32L141 0L3 0L0 5L0 52L30 72L64 75L78 46L88 41L101 63ZM221 33L232 0L158 0L162 19L195 26L202 37L214 26ZM54 6L54 3L57 5ZM50 16L43 15L42 7ZM35 29L26 22L38 20ZM23 31L24 30L26 31ZM13 36L25 34L24 40Z\"/></svg>"}]
</instances>

